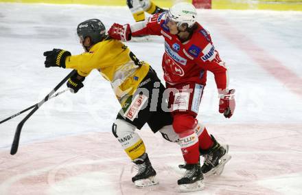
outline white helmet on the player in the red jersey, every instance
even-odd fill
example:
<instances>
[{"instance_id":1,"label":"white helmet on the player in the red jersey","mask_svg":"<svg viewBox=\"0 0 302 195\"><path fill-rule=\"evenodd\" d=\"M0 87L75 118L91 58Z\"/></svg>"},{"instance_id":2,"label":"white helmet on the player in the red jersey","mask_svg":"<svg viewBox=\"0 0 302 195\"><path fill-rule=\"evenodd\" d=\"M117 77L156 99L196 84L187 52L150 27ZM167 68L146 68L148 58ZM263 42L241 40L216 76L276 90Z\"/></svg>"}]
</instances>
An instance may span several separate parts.
<instances>
[{"instance_id":1,"label":"white helmet on the player in the red jersey","mask_svg":"<svg viewBox=\"0 0 302 195\"><path fill-rule=\"evenodd\" d=\"M177 3L167 12L167 19L176 22L178 27L184 23L187 23L188 27L192 27L196 23L196 18L196 8L187 2Z\"/></svg>"}]
</instances>

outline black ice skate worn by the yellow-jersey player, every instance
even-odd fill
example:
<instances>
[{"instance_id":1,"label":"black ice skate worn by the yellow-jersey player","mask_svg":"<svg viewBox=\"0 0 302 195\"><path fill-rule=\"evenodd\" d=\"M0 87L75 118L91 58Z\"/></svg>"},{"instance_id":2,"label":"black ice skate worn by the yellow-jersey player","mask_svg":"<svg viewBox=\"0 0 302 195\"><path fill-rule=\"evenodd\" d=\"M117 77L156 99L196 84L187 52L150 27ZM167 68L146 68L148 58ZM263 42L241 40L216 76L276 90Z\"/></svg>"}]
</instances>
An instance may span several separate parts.
<instances>
[{"instance_id":1,"label":"black ice skate worn by the yellow-jersey player","mask_svg":"<svg viewBox=\"0 0 302 195\"><path fill-rule=\"evenodd\" d=\"M149 185L156 185L159 182L156 181L156 172L152 168L148 154L145 153L141 157L133 161L137 165L138 172L132 177L132 182L135 183L137 187L146 187Z\"/></svg>"}]
</instances>

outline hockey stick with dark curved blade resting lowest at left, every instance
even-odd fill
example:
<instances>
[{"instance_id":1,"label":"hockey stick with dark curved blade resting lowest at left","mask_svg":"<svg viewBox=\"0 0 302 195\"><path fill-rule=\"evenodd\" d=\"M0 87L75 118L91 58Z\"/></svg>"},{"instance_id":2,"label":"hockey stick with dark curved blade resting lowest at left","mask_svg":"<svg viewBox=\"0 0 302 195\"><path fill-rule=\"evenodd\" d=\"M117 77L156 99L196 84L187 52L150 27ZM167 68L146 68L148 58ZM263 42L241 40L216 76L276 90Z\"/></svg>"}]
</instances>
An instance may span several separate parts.
<instances>
[{"instance_id":1,"label":"hockey stick with dark curved blade resting lowest at left","mask_svg":"<svg viewBox=\"0 0 302 195\"><path fill-rule=\"evenodd\" d=\"M38 102L34 109L18 124L18 126L16 127L16 133L14 133L14 140L12 141L12 148L10 149L10 154L14 155L18 150L21 130L27 119L30 118L30 116L32 116L38 110L38 108L40 108L40 106L47 102L47 100L49 100L49 97L51 97L51 95L53 95L62 86L62 84L67 82L67 80L71 76L73 76L74 73L76 73L76 70L71 71L52 91L50 91L50 93L48 93L48 95L46 95L43 100Z\"/></svg>"}]
</instances>

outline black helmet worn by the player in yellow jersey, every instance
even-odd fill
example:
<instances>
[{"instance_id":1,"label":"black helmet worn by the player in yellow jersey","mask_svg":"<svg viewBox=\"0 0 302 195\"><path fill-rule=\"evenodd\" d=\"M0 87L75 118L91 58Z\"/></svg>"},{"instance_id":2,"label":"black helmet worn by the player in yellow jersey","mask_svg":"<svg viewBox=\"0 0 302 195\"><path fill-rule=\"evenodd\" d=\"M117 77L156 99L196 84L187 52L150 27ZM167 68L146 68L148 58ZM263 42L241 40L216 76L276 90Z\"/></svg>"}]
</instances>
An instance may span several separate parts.
<instances>
[{"instance_id":1,"label":"black helmet worn by the player in yellow jersey","mask_svg":"<svg viewBox=\"0 0 302 195\"><path fill-rule=\"evenodd\" d=\"M89 36L92 43L95 44L105 38L106 28L99 19L89 19L78 25L77 34L82 40Z\"/></svg>"}]
</instances>

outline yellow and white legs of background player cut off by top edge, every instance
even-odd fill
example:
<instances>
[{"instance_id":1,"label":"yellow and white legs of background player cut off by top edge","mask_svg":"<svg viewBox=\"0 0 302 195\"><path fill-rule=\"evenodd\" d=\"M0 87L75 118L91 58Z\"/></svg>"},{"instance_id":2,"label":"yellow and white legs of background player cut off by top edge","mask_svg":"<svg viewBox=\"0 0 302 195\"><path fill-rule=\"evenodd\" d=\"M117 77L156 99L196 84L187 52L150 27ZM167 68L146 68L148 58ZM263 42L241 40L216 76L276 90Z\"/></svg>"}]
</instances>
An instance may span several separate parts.
<instances>
[{"instance_id":1,"label":"yellow and white legs of background player cut off by top edge","mask_svg":"<svg viewBox=\"0 0 302 195\"><path fill-rule=\"evenodd\" d=\"M127 0L127 5L136 22L145 20L145 12L157 14L166 11L159 8L151 0Z\"/></svg>"}]
</instances>

